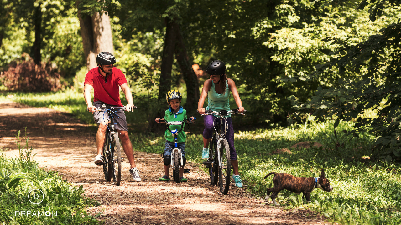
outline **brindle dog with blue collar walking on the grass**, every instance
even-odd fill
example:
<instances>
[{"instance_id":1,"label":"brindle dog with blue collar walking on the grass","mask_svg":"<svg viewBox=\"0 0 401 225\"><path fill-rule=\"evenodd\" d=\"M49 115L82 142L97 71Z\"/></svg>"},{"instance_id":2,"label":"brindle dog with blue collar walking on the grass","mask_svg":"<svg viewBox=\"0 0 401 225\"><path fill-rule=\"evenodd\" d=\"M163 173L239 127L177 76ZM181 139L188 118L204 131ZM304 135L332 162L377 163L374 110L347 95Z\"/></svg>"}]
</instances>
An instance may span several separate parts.
<instances>
[{"instance_id":1,"label":"brindle dog with blue collar walking on the grass","mask_svg":"<svg viewBox=\"0 0 401 225\"><path fill-rule=\"evenodd\" d=\"M275 198L277 197L277 194L283 189L294 192L296 194L300 193L304 194L307 202L310 202L310 193L315 188L320 188L323 191L327 192L333 190L333 187L330 186L330 181L328 181L328 179L324 177L323 169L322 173L320 174L320 177L317 179L317 182L315 177L294 177L293 175L288 173L274 173L274 172L267 174L263 179L266 179L266 177L269 177L272 174L274 174L273 177L274 187L267 189L265 201L266 202L269 201L270 197L274 205L279 205L275 201ZM273 195L269 196L269 194L272 192Z\"/></svg>"}]
</instances>

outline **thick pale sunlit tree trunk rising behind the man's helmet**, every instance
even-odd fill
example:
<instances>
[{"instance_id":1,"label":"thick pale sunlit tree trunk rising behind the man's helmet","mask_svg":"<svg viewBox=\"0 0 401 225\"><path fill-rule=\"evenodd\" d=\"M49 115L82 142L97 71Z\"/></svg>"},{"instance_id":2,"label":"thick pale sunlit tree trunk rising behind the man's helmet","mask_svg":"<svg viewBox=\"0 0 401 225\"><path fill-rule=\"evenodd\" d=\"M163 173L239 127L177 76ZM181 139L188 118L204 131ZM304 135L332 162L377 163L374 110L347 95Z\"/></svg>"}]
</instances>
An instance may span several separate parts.
<instances>
[{"instance_id":1,"label":"thick pale sunlit tree trunk rising behind the man's helmet","mask_svg":"<svg viewBox=\"0 0 401 225\"><path fill-rule=\"evenodd\" d=\"M79 3L77 3L78 5ZM95 68L99 52L114 52L110 18L105 13L96 12L93 16L82 15L78 10L83 50L88 70Z\"/></svg>"}]
</instances>

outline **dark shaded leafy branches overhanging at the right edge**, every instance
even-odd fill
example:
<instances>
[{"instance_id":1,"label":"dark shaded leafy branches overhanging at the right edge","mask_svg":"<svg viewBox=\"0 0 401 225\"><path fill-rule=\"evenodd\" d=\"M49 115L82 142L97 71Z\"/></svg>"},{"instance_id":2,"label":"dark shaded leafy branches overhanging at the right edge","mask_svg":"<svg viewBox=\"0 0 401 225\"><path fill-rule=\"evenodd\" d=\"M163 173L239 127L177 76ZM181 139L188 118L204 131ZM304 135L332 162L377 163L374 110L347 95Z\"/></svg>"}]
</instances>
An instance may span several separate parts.
<instances>
[{"instance_id":1,"label":"dark shaded leafy branches overhanging at the right edge","mask_svg":"<svg viewBox=\"0 0 401 225\"><path fill-rule=\"evenodd\" d=\"M390 14L399 15L399 6L384 4L378 1L370 4L370 20L376 21L377 16ZM358 8L367 5L363 1ZM392 22L392 20L387 21ZM300 119L299 112L313 112L320 118L333 118L337 121L356 120L348 135L358 137L360 132L369 130L376 137L376 149L382 158L391 161L393 157L401 156L399 142L401 123L400 104L400 33L401 23L393 21L380 30L381 34L369 37L369 40L355 44L352 40L331 40L324 42L336 45L331 53L330 61L315 66L316 70L306 80L318 80L328 74L338 73L338 83L330 88L318 87L309 101L305 102L290 96L297 113L290 117ZM349 74L356 76L352 77ZM380 102L385 99L384 107ZM379 117L364 117L366 110L373 110ZM338 123L337 123L338 124Z\"/></svg>"}]
</instances>

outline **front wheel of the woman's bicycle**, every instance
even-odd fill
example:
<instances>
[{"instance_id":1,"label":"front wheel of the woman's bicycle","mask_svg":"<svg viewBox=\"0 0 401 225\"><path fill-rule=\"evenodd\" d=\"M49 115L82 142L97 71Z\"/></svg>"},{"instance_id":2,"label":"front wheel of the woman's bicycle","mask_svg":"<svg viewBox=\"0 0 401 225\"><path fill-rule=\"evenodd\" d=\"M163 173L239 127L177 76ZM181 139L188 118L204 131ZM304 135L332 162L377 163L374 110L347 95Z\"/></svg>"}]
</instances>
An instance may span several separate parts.
<instances>
[{"instance_id":1,"label":"front wheel of the woman's bicycle","mask_svg":"<svg viewBox=\"0 0 401 225\"><path fill-rule=\"evenodd\" d=\"M220 162L219 162L219 185L220 192L223 195L227 195L228 190L230 189L230 176L231 176L231 155L230 155L230 147L228 145L227 140L221 140L220 151ZM223 168L225 163L225 167ZM221 166L222 165L222 166Z\"/></svg>"}]
</instances>

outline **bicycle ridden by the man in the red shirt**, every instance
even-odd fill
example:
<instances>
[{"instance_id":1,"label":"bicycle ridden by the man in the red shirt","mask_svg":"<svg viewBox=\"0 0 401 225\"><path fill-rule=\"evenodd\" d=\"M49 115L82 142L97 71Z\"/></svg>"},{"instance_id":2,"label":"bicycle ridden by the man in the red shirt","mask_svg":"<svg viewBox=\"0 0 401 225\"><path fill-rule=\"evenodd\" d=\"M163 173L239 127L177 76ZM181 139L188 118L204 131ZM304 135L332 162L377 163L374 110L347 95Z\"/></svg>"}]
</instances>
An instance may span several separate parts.
<instances>
[{"instance_id":1,"label":"bicycle ridden by the man in the red shirt","mask_svg":"<svg viewBox=\"0 0 401 225\"><path fill-rule=\"evenodd\" d=\"M136 106L134 106L134 108L136 108ZM107 121L104 121L107 124L107 129L102 152L103 163L97 163L96 165L103 165L105 180L111 181L111 177L113 177L114 185L118 186L121 182L121 163L124 161L124 158L121 157L120 140L118 138L118 133L114 128L115 123L113 115L117 115L115 112L118 111L126 111L126 106L111 106L110 108L106 108L106 105L103 104L101 107L97 107L97 111L107 112L109 114L107 121L110 120L110 122L107 124Z\"/></svg>"}]
</instances>

